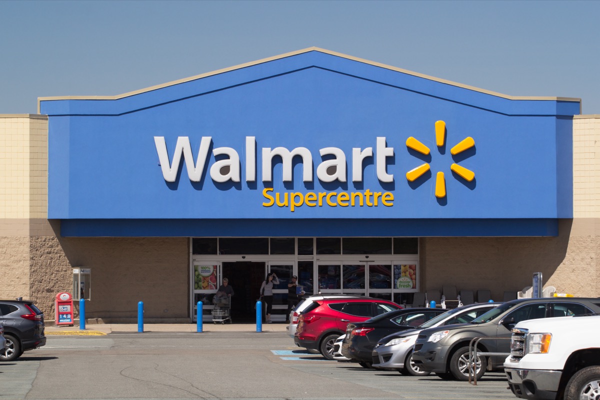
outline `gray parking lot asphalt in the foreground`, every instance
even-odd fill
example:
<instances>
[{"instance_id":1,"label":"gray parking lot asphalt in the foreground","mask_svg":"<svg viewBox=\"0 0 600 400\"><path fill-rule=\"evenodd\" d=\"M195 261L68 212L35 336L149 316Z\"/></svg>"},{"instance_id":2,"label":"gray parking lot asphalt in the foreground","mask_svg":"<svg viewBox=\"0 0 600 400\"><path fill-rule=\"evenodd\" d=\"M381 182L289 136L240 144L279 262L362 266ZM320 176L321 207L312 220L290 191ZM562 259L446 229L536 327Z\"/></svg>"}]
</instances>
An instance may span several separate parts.
<instances>
[{"instance_id":1,"label":"gray parking lot asphalt in the foreground","mask_svg":"<svg viewBox=\"0 0 600 400\"><path fill-rule=\"evenodd\" d=\"M514 399L504 374L472 386L329 361L296 347L284 324L260 333L252 324L205 324L202 333L190 331L195 324L156 325L143 333L136 324L104 324L94 326L104 335L49 335L46 346L0 363L0 398ZM73 327L49 327L61 329Z\"/></svg>"}]
</instances>

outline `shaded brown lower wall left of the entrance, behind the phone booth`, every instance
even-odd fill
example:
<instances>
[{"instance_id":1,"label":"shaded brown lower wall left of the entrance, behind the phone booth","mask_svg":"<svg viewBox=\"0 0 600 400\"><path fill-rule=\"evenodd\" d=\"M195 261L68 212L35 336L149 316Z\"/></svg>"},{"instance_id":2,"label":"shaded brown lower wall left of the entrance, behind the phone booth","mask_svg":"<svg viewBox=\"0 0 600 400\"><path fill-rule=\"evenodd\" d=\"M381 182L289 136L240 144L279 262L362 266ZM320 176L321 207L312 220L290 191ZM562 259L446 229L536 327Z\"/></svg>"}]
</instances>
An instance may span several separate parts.
<instances>
[{"instance_id":1,"label":"shaded brown lower wall left of the entrance, behind the phone booth","mask_svg":"<svg viewBox=\"0 0 600 400\"><path fill-rule=\"evenodd\" d=\"M32 287L48 296L71 292L71 267L89 267L86 317L137 318L142 301L145 320L188 318L188 243L187 237L40 237L32 246Z\"/></svg>"}]
</instances>

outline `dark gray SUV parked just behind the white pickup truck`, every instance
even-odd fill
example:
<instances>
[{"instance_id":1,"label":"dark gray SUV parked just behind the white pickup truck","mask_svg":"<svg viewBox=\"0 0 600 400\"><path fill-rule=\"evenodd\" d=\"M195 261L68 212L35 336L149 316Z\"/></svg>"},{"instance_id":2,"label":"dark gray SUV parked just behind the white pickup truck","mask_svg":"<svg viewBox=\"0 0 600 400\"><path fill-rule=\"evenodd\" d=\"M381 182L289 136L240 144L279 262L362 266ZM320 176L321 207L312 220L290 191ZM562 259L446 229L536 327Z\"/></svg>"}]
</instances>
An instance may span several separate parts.
<instances>
[{"instance_id":1,"label":"dark gray SUV parked just behind the white pickup truck","mask_svg":"<svg viewBox=\"0 0 600 400\"><path fill-rule=\"evenodd\" d=\"M422 371L434 372L443 379L468 380L469 369L481 378L488 371L502 370L511 352L509 340L512 328L524 320L565 317L600 312L600 299L578 297L547 297L519 299L491 309L469 324L439 326L422 330L413 348L413 362ZM484 353L503 353L469 359L471 339L485 336L478 350ZM475 372L472 372L475 374Z\"/></svg>"}]
</instances>

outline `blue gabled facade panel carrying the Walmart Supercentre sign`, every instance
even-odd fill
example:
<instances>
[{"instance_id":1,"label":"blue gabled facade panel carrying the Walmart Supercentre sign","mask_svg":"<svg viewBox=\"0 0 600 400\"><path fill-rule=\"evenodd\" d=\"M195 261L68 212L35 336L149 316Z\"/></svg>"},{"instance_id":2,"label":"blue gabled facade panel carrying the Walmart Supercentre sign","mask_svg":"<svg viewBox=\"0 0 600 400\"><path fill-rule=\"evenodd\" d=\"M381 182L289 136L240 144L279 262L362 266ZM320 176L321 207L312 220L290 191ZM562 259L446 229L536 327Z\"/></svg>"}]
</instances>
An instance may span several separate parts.
<instances>
[{"instance_id":1,"label":"blue gabled facade panel carrying the Walmart Supercentre sign","mask_svg":"<svg viewBox=\"0 0 600 400\"><path fill-rule=\"evenodd\" d=\"M552 236L557 219L572 218L579 110L578 101L512 100L324 50L117 100L41 100L49 115L48 216L62 220L64 236ZM442 146L436 121L446 126ZM193 160L182 155L170 182L163 172L183 137ZM194 181L188 167L199 164L203 137L206 162ZM409 137L430 154L408 148ZM466 137L475 146L452 155ZM167 166L155 138L164 138ZM284 182L282 159L266 168L264 148L303 148L311 161L293 157ZM355 148L373 155L358 162ZM331 175L324 171L334 158L337 179L319 179ZM424 163L430 170L407 180ZM475 179L452 172L453 163ZM435 196L438 172L443 197ZM377 205L367 191L379 193ZM292 196L302 199L293 210Z\"/></svg>"}]
</instances>

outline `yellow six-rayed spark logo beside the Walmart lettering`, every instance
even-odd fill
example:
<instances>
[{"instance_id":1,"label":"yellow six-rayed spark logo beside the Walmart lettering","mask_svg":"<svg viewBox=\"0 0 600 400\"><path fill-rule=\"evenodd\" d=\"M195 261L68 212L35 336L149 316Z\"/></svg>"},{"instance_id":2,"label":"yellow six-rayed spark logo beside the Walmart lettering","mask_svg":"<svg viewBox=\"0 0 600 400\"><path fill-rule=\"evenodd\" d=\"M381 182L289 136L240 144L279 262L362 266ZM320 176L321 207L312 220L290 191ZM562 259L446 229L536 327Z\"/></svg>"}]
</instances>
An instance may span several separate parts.
<instances>
[{"instance_id":1,"label":"yellow six-rayed spark logo beside the Walmart lettering","mask_svg":"<svg viewBox=\"0 0 600 400\"><path fill-rule=\"evenodd\" d=\"M440 148L444 145L445 137L446 137L446 122L437 121L436 122L436 145L437 145L437 147ZM457 155L467 149L472 148L473 146L475 146L475 140L473 140L473 138L470 136L466 137L465 139L461 140L461 142L458 143L458 145L456 145L452 149L450 149L450 154ZM413 149L414 151L418 151L419 153L424 154L424 155L430 154L430 149L427 146L425 146L423 143L416 140L412 136L409 137L409 139L406 139L406 147L409 149ZM407 172L406 179L408 179L410 182L414 182L414 181L416 181L416 179L419 178L419 176L423 175L429 169L430 169L430 167L429 167L428 163L422 164L422 165L416 167L415 169L412 169L409 172ZM475 172L470 171L470 170L466 169L465 167L461 167L456 163L452 163L452 165L450 166L450 169L453 172L455 172L458 176L460 176L461 178L463 178L464 180L466 180L468 182L471 182L471 181L473 181L473 179L475 179ZM446 197L446 179L444 178L443 172L437 173L436 197L439 199L442 199L442 197Z\"/></svg>"}]
</instances>

